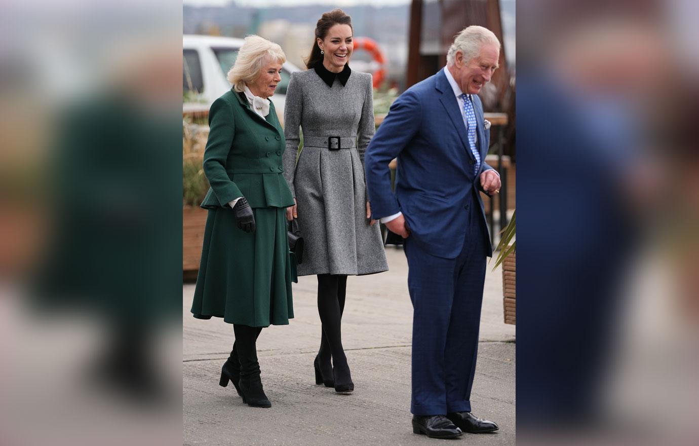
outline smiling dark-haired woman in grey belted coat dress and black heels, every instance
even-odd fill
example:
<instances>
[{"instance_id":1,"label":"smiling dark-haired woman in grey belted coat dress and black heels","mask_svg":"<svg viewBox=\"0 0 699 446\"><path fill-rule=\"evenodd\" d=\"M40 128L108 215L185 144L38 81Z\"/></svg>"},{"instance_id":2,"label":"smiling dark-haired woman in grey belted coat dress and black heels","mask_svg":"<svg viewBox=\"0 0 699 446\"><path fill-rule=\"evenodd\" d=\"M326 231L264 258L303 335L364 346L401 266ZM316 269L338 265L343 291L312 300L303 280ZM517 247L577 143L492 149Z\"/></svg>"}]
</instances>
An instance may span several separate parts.
<instances>
[{"instance_id":1,"label":"smiling dark-haired woman in grey belted coat dress and black heels","mask_svg":"<svg viewBox=\"0 0 699 446\"><path fill-rule=\"evenodd\" d=\"M284 109L284 176L296 201L287 219L298 218L305 241L297 272L318 277L323 332L314 361L316 383L338 393L354 390L340 336L347 275L388 270L364 182L364 151L375 129L372 80L349 69L351 54L349 15L340 9L324 13L308 70L291 75ZM299 127L303 150L294 168Z\"/></svg>"}]
</instances>

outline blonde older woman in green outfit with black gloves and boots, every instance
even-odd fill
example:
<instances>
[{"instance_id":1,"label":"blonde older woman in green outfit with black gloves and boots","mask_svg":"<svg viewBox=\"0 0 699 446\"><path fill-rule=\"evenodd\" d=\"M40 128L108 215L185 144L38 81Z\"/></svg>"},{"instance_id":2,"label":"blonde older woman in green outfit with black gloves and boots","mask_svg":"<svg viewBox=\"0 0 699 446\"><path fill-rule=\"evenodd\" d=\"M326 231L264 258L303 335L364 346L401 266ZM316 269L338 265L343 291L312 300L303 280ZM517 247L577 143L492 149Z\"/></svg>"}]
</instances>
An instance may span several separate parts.
<instances>
[{"instance_id":1,"label":"blonde older woman in green outfit with black gloves and boots","mask_svg":"<svg viewBox=\"0 0 699 446\"><path fill-rule=\"evenodd\" d=\"M296 267L284 217L294 199L282 175L284 131L268 99L285 60L276 43L245 38L228 73L233 88L211 106L203 160L211 188L201 204L208 218L192 313L233 324L236 342L219 384L233 382L253 407L271 406L262 389L257 336L294 317Z\"/></svg>"}]
</instances>

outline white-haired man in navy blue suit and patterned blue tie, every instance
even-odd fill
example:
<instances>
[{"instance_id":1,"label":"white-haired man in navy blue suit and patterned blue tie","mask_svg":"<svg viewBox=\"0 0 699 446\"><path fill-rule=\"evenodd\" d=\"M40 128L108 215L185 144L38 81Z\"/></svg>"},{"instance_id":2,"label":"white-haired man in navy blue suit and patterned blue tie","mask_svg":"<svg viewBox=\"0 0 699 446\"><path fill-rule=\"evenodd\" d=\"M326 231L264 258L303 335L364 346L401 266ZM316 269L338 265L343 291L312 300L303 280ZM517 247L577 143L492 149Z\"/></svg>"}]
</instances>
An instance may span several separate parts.
<instances>
[{"instance_id":1,"label":"white-haired man in navy blue suit and patterned blue tie","mask_svg":"<svg viewBox=\"0 0 699 446\"><path fill-rule=\"evenodd\" d=\"M412 322L412 427L431 438L496 431L471 414L486 257L479 190L500 192L477 93L498 68L492 31L463 29L447 66L391 106L365 154L372 218L405 238ZM396 192L389 161L398 158Z\"/></svg>"}]
</instances>

